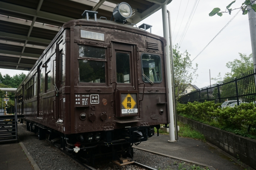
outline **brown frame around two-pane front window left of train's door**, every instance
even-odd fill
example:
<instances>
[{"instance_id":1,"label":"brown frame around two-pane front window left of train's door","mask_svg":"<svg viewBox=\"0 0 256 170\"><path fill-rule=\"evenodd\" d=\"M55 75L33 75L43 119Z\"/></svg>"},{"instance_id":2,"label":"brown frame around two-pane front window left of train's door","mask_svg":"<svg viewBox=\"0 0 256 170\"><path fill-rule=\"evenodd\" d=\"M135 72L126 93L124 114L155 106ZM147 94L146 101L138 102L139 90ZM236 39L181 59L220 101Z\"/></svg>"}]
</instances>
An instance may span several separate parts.
<instances>
[{"instance_id":1,"label":"brown frame around two-pane front window left of train's door","mask_svg":"<svg viewBox=\"0 0 256 170\"><path fill-rule=\"evenodd\" d=\"M79 56L79 46L88 46L92 48L101 48L105 49L105 59L101 58L89 58L89 57L80 57ZM78 64L78 82L80 86L106 86L108 84L108 62L107 62L107 47L101 47L101 46L90 46L90 45L84 45L77 43L77 64ZM80 75L79 75L79 60L87 60L87 61L102 61L105 63L105 83L91 83L91 82L80 82Z\"/></svg>"}]
</instances>

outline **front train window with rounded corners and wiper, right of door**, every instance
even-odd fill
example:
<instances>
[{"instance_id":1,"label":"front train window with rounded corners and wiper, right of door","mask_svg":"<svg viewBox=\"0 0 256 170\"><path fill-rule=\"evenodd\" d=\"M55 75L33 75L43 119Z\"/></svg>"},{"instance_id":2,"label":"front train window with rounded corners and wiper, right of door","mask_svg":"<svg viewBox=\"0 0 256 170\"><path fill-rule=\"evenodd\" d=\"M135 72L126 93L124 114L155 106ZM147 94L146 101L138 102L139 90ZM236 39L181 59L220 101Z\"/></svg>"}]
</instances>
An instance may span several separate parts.
<instances>
[{"instance_id":1,"label":"front train window with rounded corners and wiper, right of door","mask_svg":"<svg viewBox=\"0 0 256 170\"><path fill-rule=\"evenodd\" d=\"M162 81L161 61L158 55L142 55L142 75L142 79L144 82Z\"/></svg>"}]
</instances>

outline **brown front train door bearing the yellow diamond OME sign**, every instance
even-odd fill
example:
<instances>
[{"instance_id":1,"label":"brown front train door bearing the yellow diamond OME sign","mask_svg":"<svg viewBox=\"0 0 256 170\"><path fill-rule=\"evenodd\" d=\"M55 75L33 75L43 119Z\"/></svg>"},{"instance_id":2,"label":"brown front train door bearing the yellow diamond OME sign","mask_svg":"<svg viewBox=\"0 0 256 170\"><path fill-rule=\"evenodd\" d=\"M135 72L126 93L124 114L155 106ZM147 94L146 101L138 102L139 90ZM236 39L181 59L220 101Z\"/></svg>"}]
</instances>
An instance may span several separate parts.
<instances>
[{"instance_id":1,"label":"brown front train door bearing the yellow diamond OME sign","mask_svg":"<svg viewBox=\"0 0 256 170\"><path fill-rule=\"evenodd\" d=\"M139 115L136 46L113 43L113 79L116 82L116 117L134 118ZM115 88L115 87L114 87Z\"/></svg>"}]
</instances>

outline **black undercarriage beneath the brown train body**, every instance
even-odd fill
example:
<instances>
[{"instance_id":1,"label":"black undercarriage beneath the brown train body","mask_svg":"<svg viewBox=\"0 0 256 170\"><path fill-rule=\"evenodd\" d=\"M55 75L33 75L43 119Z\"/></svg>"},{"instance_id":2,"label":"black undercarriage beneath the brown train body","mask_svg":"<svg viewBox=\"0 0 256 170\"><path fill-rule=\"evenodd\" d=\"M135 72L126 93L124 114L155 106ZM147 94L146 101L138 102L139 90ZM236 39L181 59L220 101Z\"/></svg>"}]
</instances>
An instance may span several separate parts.
<instances>
[{"instance_id":1,"label":"black undercarriage beneath the brown train body","mask_svg":"<svg viewBox=\"0 0 256 170\"><path fill-rule=\"evenodd\" d=\"M39 140L47 140L62 151L73 154L73 157L87 164L95 164L96 159L112 158L123 164L123 160L133 161L133 145L139 145L152 137L154 127L158 130L160 125L128 127L96 131L90 133L64 134L36 122L21 119L26 122L28 131L38 134Z\"/></svg>"}]
</instances>

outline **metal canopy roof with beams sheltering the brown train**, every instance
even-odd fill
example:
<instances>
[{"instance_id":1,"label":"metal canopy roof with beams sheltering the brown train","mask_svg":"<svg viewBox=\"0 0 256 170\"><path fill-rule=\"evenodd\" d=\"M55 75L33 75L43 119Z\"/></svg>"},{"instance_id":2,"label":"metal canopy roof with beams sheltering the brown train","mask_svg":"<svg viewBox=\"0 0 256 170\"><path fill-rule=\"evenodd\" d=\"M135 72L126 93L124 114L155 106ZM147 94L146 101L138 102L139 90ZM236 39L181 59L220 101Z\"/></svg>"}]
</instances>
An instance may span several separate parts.
<instances>
[{"instance_id":1,"label":"metal canopy roof with beams sheltering the brown train","mask_svg":"<svg viewBox=\"0 0 256 170\"><path fill-rule=\"evenodd\" d=\"M110 20L121 2L133 9L126 24L137 24L165 0L0 0L0 68L30 70L65 22L81 19L84 10Z\"/></svg>"}]
</instances>

